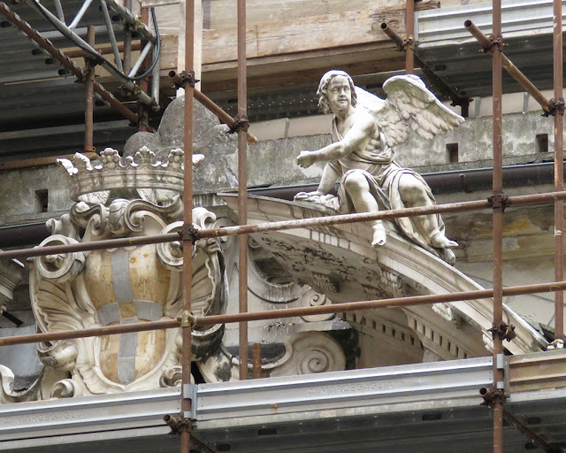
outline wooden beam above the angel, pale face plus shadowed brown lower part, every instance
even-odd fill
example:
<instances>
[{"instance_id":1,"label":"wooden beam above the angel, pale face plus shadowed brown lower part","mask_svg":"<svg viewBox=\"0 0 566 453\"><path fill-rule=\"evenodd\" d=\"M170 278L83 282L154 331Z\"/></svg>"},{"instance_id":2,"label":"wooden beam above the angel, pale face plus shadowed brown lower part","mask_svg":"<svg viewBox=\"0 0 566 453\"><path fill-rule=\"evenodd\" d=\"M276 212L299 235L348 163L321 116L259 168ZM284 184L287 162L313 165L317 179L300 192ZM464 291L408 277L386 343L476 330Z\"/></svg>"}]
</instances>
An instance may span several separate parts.
<instances>
[{"instance_id":1,"label":"wooden beam above the angel, pale face plus shadowed brown lower part","mask_svg":"<svg viewBox=\"0 0 566 453\"><path fill-rule=\"evenodd\" d=\"M333 68L346 70L352 75L402 69L404 55L397 51L380 25L386 21L403 36L404 7L400 2L393 7L325 14L249 27L249 87L317 82L323 73ZM438 7L438 0L423 0L416 4L417 10ZM167 45L174 45L174 42ZM172 58L162 58L162 73L169 68L175 69L176 62ZM235 89L236 68L236 28L205 30L203 92Z\"/></svg>"}]
</instances>

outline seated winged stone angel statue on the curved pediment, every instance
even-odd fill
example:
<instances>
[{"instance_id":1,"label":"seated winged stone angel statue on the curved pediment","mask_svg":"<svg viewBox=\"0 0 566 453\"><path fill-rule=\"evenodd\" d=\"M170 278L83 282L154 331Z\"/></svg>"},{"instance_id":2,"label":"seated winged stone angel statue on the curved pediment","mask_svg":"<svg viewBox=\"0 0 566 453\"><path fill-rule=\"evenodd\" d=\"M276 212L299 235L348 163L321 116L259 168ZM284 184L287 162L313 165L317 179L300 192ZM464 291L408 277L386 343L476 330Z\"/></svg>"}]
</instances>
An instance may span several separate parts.
<instances>
[{"instance_id":1,"label":"seated winged stone angel statue on the curved pediment","mask_svg":"<svg viewBox=\"0 0 566 453\"><path fill-rule=\"evenodd\" d=\"M326 162L315 192L294 199L321 203L340 213L377 212L403 207L431 206L431 188L423 177L394 161L393 147L405 142L411 131L425 139L445 134L463 122L425 88L415 75L399 75L384 85L386 100L354 86L343 71L325 73L317 90L318 106L333 113L333 143L321 150L303 150L297 164L308 168ZM338 196L328 195L339 180ZM424 249L454 264L457 242L444 234L440 215L395 219L402 234ZM381 220L370 222L371 246L386 243Z\"/></svg>"}]
</instances>

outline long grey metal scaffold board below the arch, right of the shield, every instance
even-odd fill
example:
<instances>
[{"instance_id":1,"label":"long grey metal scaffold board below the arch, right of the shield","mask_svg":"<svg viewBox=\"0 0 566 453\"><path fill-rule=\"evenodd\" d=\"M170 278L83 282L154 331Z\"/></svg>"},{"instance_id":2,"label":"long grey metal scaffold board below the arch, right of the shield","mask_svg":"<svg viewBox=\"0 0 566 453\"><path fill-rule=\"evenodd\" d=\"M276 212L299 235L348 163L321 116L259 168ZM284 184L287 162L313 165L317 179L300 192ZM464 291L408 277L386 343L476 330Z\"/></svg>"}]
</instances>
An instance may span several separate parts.
<instances>
[{"instance_id":1,"label":"long grey metal scaffold board below the arch, right of the shield","mask_svg":"<svg viewBox=\"0 0 566 453\"><path fill-rule=\"evenodd\" d=\"M493 380L491 357L400 365L324 375L201 384L200 430L297 418L332 418L478 403Z\"/></svg>"}]
</instances>

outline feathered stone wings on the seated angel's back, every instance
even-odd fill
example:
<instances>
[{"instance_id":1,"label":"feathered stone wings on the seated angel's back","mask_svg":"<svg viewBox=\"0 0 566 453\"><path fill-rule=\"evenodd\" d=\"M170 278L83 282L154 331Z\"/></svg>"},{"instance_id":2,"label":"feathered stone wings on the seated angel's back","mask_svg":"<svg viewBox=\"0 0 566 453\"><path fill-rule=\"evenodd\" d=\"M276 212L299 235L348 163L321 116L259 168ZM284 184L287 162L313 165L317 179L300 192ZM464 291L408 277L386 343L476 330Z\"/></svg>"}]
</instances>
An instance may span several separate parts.
<instances>
[{"instance_id":1,"label":"feathered stone wings on the seated angel's back","mask_svg":"<svg viewBox=\"0 0 566 453\"><path fill-rule=\"evenodd\" d=\"M430 140L463 123L463 117L448 109L416 75L396 75L383 84L386 100L356 87L358 104L376 119L389 146L405 142L415 132Z\"/></svg>"}]
</instances>

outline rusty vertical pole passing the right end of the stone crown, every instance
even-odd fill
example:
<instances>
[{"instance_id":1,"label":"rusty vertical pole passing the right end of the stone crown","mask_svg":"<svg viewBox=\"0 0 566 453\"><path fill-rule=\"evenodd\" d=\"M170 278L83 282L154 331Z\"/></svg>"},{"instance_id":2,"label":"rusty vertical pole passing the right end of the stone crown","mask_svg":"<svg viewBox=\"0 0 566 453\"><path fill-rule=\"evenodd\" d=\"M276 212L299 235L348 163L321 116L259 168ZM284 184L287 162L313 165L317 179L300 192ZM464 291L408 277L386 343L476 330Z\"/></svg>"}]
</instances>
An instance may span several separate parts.
<instances>
[{"instance_id":1,"label":"rusty vertical pole passing the right end of the stone crown","mask_svg":"<svg viewBox=\"0 0 566 453\"><path fill-rule=\"evenodd\" d=\"M188 73L195 61L195 0L185 0L185 71ZM194 80L185 82L185 129L183 143L185 150L185 187L184 198L184 232L183 232L183 315L187 321L191 313L191 288L193 286L193 241L189 228L193 225L193 101ZM182 317L181 317L182 320ZM183 388L191 382L191 349L192 327L188 322L181 322L183 350L182 350L182 384ZM193 402L188 398L181 398L181 416L190 411ZM180 432L180 451L189 453L191 434L189 429Z\"/></svg>"}]
</instances>

